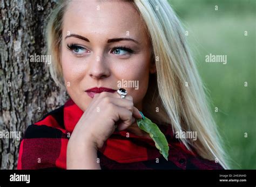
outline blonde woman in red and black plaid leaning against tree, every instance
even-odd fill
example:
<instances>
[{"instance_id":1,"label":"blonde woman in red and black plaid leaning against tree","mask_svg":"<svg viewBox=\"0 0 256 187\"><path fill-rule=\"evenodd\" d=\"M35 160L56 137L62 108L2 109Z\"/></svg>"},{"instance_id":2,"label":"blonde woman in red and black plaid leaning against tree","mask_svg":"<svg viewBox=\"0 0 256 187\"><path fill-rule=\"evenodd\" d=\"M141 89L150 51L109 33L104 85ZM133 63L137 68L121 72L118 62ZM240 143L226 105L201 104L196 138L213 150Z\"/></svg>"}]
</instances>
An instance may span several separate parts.
<instances>
[{"instance_id":1,"label":"blonde woman in red and black plaid leaning against tree","mask_svg":"<svg viewBox=\"0 0 256 187\"><path fill-rule=\"evenodd\" d=\"M167 1L60 1L50 73L70 100L28 127L18 169L228 168L184 34ZM139 111L165 134L168 161Z\"/></svg>"}]
</instances>

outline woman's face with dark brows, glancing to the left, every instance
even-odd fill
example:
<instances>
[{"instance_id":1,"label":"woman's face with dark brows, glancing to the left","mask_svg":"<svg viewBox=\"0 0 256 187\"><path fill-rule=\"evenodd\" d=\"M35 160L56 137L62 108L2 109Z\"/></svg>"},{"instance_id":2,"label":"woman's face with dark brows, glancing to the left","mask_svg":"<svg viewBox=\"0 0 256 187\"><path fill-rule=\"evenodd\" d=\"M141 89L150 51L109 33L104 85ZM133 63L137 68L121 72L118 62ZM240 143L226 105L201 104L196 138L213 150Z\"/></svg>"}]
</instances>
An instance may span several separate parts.
<instances>
[{"instance_id":1,"label":"woman's face with dark brows, glancing to the left","mask_svg":"<svg viewBox=\"0 0 256 187\"><path fill-rule=\"evenodd\" d=\"M86 90L119 86L142 110L155 66L145 27L131 3L71 2L64 14L61 61L66 89L83 111L93 99Z\"/></svg>"}]
</instances>

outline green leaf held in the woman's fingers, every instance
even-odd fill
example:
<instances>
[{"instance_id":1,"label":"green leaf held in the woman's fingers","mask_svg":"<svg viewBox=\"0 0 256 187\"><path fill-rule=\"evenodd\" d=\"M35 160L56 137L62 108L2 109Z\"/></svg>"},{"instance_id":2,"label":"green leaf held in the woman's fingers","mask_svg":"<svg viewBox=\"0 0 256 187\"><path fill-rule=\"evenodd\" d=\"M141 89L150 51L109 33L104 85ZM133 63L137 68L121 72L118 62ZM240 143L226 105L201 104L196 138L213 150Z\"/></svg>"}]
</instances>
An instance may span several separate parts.
<instances>
[{"instance_id":1,"label":"green leaf held in the woman's fingers","mask_svg":"<svg viewBox=\"0 0 256 187\"><path fill-rule=\"evenodd\" d=\"M143 119L137 119L137 124L141 130L149 133L157 149L159 149L160 154L162 154L164 158L168 161L168 142L165 138L165 135L159 130L158 126L152 123L152 121L149 118L146 118L145 116L143 116Z\"/></svg>"}]
</instances>

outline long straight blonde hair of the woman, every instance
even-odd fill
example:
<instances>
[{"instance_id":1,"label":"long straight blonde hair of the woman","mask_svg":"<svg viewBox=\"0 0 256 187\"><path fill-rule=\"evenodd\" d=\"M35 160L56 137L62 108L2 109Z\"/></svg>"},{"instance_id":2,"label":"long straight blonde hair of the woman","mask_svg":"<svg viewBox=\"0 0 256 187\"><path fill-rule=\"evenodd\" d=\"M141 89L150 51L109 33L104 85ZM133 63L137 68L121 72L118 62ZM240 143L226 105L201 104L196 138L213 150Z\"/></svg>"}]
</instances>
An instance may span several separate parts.
<instances>
[{"instance_id":1,"label":"long straight blonde hair of the woman","mask_svg":"<svg viewBox=\"0 0 256 187\"><path fill-rule=\"evenodd\" d=\"M173 132L197 132L197 141L180 139L188 150L217 161L225 169L226 154L217 125L209 110L204 84L186 44L185 31L166 0L131 1L149 34L157 72L151 75L143 100L145 115L159 123L169 123ZM52 55L50 73L64 86L60 64L63 15L68 1L60 1L48 24L48 53ZM156 112L158 107L159 112ZM144 111L143 111L144 112Z\"/></svg>"}]
</instances>

